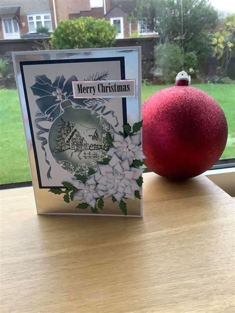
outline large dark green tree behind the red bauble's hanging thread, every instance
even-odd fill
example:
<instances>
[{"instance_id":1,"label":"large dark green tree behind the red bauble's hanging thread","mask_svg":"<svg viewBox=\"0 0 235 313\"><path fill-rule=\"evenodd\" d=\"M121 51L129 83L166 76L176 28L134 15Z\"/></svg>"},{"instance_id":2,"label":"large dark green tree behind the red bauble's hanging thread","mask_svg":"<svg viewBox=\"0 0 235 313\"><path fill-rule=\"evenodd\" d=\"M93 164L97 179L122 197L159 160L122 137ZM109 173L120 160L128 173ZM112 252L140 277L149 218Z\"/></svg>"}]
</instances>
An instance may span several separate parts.
<instances>
[{"instance_id":1,"label":"large dark green tree behind the red bauble's hanging thread","mask_svg":"<svg viewBox=\"0 0 235 313\"><path fill-rule=\"evenodd\" d=\"M211 52L208 33L218 22L218 13L209 0L182 0L184 51L195 52L205 62ZM160 43L181 45L181 0L137 0L133 13L160 36Z\"/></svg>"}]
</instances>

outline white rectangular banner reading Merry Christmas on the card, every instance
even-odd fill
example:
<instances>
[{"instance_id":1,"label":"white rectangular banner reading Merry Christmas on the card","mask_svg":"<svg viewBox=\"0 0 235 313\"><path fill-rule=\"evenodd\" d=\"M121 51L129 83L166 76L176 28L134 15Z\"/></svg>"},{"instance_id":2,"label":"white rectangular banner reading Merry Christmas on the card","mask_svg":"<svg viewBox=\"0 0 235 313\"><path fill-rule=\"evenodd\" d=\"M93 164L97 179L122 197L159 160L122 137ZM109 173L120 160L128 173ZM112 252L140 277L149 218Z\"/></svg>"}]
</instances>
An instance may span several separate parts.
<instances>
[{"instance_id":1,"label":"white rectangular banner reading Merry Christmas on the card","mask_svg":"<svg viewBox=\"0 0 235 313\"><path fill-rule=\"evenodd\" d=\"M135 79L73 81L73 98L135 97Z\"/></svg>"}]
</instances>

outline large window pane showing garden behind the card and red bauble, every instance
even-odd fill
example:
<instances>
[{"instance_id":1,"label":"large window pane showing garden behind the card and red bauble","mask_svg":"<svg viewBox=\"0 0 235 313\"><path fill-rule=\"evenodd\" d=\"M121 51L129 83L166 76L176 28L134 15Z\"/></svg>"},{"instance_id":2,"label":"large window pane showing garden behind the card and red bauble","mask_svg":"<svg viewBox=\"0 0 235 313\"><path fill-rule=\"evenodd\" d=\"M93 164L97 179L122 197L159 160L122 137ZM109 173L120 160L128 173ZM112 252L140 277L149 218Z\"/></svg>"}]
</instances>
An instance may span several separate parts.
<instances>
[{"instance_id":1,"label":"large window pane showing garden behind the card and red bauble","mask_svg":"<svg viewBox=\"0 0 235 313\"><path fill-rule=\"evenodd\" d=\"M211 95L227 118L229 135L220 162L235 158L235 9L231 0L182 0L183 36L180 0L70 1L76 5L69 5L68 11L64 9L65 2L68 1L56 1L54 14L49 0L23 1L20 16L5 15L0 20L0 45L4 47L0 49L0 61L6 61L5 67L0 67L0 149L4 151L0 153L0 184L31 180L12 51L22 47L25 51L53 49L50 36L55 25L65 19L76 23L85 15L96 21L105 18L109 27L115 27L114 42L107 44L109 32L104 34L102 26L86 30L82 37L74 32L71 40L61 36L59 49L141 46L142 102L175 84L174 77L182 69L183 38L184 69L191 75L191 86ZM45 31L43 36L36 34L39 27ZM42 27L48 28L50 34ZM99 37L100 33L103 37Z\"/></svg>"}]
</instances>

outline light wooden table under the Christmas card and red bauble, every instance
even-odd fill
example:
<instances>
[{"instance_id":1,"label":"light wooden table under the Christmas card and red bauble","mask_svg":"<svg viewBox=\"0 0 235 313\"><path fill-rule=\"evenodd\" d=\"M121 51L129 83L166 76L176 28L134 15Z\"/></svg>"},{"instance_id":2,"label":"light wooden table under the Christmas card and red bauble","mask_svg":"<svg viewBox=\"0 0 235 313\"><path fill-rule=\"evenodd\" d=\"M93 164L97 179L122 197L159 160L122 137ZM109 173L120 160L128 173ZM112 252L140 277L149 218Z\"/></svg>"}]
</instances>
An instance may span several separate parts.
<instances>
[{"instance_id":1,"label":"light wooden table under the Christmas card and red bauble","mask_svg":"<svg viewBox=\"0 0 235 313\"><path fill-rule=\"evenodd\" d=\"M234 199L144 175L144 218L37 216L1 191L2 312L234 312Z\"/></svg>"}]
</instances>

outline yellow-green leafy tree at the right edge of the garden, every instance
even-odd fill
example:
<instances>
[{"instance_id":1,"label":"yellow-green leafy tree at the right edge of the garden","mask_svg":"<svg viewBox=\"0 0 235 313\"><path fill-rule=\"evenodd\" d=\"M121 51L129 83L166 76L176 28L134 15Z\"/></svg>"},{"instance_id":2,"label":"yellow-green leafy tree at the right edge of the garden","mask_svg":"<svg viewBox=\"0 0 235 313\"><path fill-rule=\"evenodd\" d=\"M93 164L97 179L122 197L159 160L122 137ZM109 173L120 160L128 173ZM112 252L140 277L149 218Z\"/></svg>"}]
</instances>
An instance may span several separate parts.
<instances>
[{"instance_id":1,"label":"yellow-green leafy tree at the right edge of the garden","mask_svg":"<svg viewBox=\"0 0 235 313\"><path fill-rule=\"evenodd\" d=\"M219 62L218 74L226 75L228 65L235 51L235 14L229 14L222 19L224 26L214 34L211 41L213 56Z\"/></svg>"}]
</instances>

